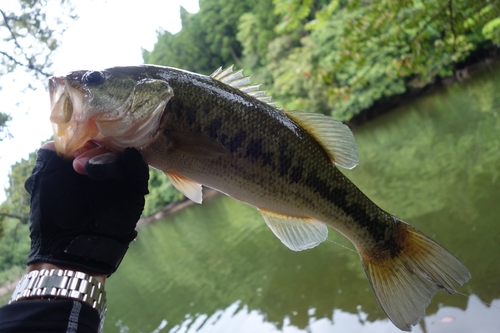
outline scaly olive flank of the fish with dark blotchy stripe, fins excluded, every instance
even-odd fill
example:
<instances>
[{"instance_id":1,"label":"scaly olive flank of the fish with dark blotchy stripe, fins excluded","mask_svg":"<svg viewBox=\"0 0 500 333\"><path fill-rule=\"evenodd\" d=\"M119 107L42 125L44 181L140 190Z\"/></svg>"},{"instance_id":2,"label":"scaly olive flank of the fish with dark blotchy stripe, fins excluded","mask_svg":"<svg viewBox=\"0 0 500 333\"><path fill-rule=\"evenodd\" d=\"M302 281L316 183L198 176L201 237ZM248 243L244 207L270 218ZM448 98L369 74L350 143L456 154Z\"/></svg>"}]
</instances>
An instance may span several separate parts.
<instances>
[{"instance_id":1,"label":"scaly olive flank of the fish with dark blotchy stripe, fins excluded","mask_svg":"<svg viewBox=\"0 0 500 333\"><path fill-rule=\"evenodd\" d=\"M244 194L250 204L269 210L278 206L282 214L317 218L343 230L351 239L361 233L352 229L364 229L360 237L364 241L358 244L368 249L371 244L389 251L398 247L392 237L395 225L390 215L381 213L355 186L345 186L352 183L330 162L322 147L283 113L217 81L171 82L179 93L167 104L166 112L172 117L161 129L207 134L228 147L230 155L203 160L165 154L165 160L153 166L182 170L188 178L236 198L243 195L238 192L244 187L257 195L252 198ZM147 158L148 147L143 151ZM234 183L238 189L224 186L226 183ZM339 183L343 186L337 186ZM291 205L298 211L292 211ZM381 228L383 220L387 226Z\"/></svg>"}]
</instances>

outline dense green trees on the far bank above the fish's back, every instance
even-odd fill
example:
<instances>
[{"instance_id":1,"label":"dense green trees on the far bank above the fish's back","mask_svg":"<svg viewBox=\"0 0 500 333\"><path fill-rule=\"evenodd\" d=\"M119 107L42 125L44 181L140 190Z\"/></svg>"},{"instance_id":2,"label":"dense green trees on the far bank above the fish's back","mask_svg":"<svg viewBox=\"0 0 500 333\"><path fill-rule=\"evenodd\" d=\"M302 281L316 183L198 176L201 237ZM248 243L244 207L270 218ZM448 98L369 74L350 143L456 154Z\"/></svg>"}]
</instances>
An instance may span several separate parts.
<instances>
[{"instance_id":1,"label":"dense green trees on the far bank above the fish's back","mask_svg":"<svg viewBox=\"0 0 500 333\"><path fill-rule=\"evenodd\" d=\"M408 89L453 75L500 43L491 0L202 1L183 30L159 36L147 62L209 73L236 63L287 109L349 120Z\"/></svg>"}]
</instances>

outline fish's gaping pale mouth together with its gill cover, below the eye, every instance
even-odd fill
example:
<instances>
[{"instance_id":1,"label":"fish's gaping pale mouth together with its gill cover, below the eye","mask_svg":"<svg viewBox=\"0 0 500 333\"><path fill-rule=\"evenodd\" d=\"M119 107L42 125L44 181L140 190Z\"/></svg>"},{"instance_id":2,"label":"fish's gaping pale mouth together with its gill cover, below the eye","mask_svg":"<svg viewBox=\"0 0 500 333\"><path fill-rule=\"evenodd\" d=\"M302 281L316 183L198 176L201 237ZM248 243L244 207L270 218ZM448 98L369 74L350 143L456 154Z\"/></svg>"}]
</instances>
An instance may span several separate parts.
<instances>
[{"instance_id":1,"label":"fish's gaping pale mouth together with its gill cover, below the eye","mask_svg":"<svg viewBox=\"0 0 500 333\"><path fill-rule=\"evenodd\" d=\"M71 76L49 78L50 121L56 151L63 158L72 159L88 140L114 151L141 148L158 130L173 96L166 83L154 80L130 85L121 93L123 98L94 88L78 86ZM148 94L148 89L153 91Z\"/></svg>"}]
</instances>

